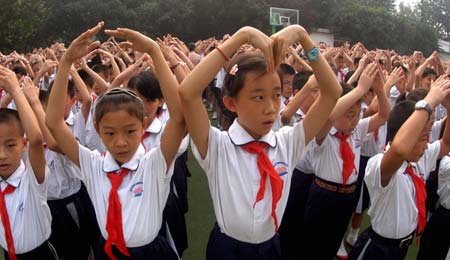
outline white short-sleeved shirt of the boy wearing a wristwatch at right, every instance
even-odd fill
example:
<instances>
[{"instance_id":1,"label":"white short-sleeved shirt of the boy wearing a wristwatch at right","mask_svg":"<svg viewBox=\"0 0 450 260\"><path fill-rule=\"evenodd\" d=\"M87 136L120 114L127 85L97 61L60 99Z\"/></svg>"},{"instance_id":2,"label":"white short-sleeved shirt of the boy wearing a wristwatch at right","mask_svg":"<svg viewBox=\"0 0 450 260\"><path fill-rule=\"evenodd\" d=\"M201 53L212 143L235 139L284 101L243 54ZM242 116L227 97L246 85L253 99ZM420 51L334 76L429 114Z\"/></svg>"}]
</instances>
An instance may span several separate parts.
<instances>
[{"instance_id":1,"label":"white short-sleeved shirt of the boy wearing a wristwatch at right","mask_svg":"<svg viewBox=\"0 0 450 260\"><path fill-rule=\"evenodd\" d=\"M411 163L414 172L424 181L436 164L440 142L428 145L417 163ZM364 181L370 195L368 214L373 230L386 238L399 239L411 234L417 228L418 209L412 178L404 174L408 163L404 162L391 177L389 184L381 186L380 165L384 154L369 159Z\"/></svg>"}]
</instances>

